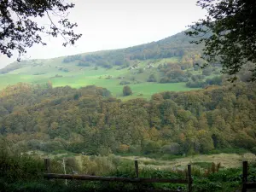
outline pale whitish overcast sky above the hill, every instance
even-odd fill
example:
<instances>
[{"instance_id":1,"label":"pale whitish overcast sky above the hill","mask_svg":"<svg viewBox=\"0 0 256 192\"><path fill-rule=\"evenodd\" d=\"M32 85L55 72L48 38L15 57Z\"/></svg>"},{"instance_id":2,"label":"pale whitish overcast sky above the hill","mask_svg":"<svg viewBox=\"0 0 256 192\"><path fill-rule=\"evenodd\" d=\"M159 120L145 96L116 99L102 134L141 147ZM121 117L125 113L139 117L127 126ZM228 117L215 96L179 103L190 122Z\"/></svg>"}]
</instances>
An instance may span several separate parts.
<instances>
[{"instance_id":1,"label":"pale whitish overcast sky above the hill","mask_svg":"<svg viewBox=\"0 0 256 192\"><path fill-rule=\"evenodd\" d=\"M75 3L69 20L78 23L82 38L74 46L62 47L61 37L43 37L46 46L27 49L22 59L47 59L102 49L147 44L181 32L206 13L196 0L69 0ZM38 20L47 24L48 20ZM15 61L0 53L0 68Z\"/></svg>"}]
</instances>

